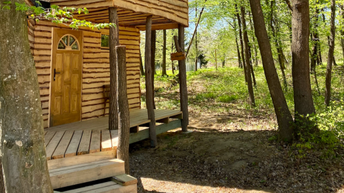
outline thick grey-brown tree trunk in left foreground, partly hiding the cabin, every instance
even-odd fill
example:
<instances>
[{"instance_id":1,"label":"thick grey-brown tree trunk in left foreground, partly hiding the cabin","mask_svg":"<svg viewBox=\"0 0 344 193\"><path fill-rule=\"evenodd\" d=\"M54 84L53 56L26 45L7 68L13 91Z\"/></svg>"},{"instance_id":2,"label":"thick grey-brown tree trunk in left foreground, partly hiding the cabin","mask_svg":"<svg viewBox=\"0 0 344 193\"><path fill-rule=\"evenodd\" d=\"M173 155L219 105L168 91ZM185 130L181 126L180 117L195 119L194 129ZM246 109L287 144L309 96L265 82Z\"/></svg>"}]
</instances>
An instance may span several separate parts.
<instances>
[{"instance_id":1,"label":"thick grey-brown tree trunk in left foreground, partly hiding the cabin","mask_svg":"<svg viewBox=\"0 0 344 193\"><path fill-rule=\"evenodd\" d=\"M4 1L0 1L3 5ZM39 83L25 12L0 11L0 191L53 192L45 159ZM3 182L2 182L3 183ZM3 187L4 186L4 187Z\"/></svg>"}]
</instances>

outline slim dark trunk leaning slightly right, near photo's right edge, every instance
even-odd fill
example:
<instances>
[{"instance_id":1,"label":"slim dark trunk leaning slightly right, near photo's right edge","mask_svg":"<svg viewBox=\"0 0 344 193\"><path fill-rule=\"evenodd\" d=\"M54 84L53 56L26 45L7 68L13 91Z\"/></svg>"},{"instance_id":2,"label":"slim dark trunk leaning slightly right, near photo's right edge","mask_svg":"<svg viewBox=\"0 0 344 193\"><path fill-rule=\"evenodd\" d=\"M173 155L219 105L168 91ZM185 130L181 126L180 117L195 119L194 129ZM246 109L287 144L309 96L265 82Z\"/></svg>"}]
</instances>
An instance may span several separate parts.
<instances>
[{"instance_id":1,"label":"slim dark trunk leaning slightly right, near photo's right edge","mask_svg":"<svg viewBox=\"0 0 344 193\"><path fill-rule=\"evenodd\" d=\"M332 76L332 63L334 61L334 40L336 36L336 1L331 0L331 34L330 34L330 41L329 41L329 49L328 49L328 59L327 59L327 68L326 68L326 80L325 80L325 104L326 106L330 105L331 100L331 76Z\"/></svg>"}]
</instances>

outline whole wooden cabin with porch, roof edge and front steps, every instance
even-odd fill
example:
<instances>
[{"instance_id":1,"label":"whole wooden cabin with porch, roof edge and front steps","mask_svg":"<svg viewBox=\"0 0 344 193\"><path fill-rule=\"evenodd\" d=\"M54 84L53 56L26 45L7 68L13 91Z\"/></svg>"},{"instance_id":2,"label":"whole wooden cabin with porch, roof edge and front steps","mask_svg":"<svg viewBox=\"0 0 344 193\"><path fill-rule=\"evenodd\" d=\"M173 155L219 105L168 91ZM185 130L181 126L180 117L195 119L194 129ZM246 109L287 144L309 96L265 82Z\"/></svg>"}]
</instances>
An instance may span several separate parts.
<instances>
[{"instance_id":1,"label":"whole wooden cabin with porch, roof edge and front steps","mask_svg":"<svg viewBox=\"0 0 344 193\"><path fill-rule=\"evenodd\" d=\"M137 180L125 174L125 162L116 157L118 130L109 130L109 95L113 91L107 88L114 80L110 72L114 59L109 54L114 48L109 47L109 37L115 36L119 45L126 46L123 74L130 112L129 143L151 138L156 144L159 133L178 127L186 130L189 124L185 61L179 61L181 109L153 110L153 100L147 100L147 109L141 109L140 31L145 30L149 37L152 30L178 28L180 47L184 49L184 27L189 25L188 1L50 0L50 3L89 10L89 14L74 14L76 19L93 23L115 23L118 19L119 30L116 36L109 29L72 30L51 21L28 20L52 186L59 192L137 192ZM110 9L116 11L115 21L109 19ZM146 38L147 45L151 45L150 41ZM152 98L150 46L146 46L146 54L146 87L150 88L147 98Z\"/></svg>"}]
</instances>

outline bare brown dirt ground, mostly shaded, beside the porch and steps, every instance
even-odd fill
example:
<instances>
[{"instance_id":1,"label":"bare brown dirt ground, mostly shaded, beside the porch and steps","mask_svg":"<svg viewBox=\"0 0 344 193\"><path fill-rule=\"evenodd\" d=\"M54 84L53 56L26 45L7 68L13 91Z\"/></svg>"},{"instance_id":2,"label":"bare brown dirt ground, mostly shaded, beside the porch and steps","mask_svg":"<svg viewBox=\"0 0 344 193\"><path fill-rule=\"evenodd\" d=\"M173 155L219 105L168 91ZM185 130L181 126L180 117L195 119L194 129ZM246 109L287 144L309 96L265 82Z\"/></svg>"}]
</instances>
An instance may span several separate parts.
<instances>
[{"instance_id":1,"label":"bare brown dirt ground, mostly shaded, beside the porch and steps","mask_svg":"<svg viewBox=\"0 0 344 193\"><path fill-rule=\"evenodd\" d=\"M289 146L269 140L273 128L261 117L202 115L189 130L158 135L130 146L130 169L138 192L344 192L344 159L308 152L298 159ZM238 120L239 119L239 120ZM257 129L258 128L258 129ZM338 152L343 155L343 152Z\"/></svg>"}]
</instances>

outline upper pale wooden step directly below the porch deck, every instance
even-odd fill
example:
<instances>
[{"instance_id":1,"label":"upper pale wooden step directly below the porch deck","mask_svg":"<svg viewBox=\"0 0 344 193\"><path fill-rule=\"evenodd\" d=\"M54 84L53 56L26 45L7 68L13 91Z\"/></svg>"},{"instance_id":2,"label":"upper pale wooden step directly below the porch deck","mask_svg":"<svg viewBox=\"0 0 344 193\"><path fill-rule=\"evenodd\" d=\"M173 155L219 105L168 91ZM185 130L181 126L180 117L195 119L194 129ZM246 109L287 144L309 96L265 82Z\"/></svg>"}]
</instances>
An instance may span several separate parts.
<instances>
[{"instance_id":1,"label":"upper pale wooden step directly below the porch deck","mask_svg":"<svg viewBox=\"0 0 344 193\"><path fill-rule=\"evenodd\" d=\"M49 173L52 188L63 188L125 174L125 162L119 159L105 159L49 170Z\"/></svg>"}]
</instances>

